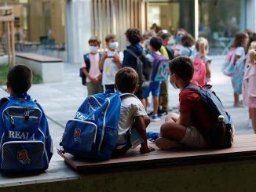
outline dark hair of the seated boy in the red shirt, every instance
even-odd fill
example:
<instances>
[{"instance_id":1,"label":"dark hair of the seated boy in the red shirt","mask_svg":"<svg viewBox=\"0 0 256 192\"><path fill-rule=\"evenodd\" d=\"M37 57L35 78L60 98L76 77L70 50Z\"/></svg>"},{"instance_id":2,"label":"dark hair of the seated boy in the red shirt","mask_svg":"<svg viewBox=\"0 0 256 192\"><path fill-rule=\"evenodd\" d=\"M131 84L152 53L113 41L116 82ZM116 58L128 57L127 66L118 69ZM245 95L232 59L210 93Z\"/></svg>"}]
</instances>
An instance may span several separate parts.
<instances>
[{"instance_id":1,"label":"dark hair of the seated boy in the red shirt","mask_svg":"<svg viewBox=\"0 0 256 192\"><path fill-rule=\"evenodd\" d=\"M169 64L170 74L177 74L183 81L190 81L193 78L193 62L188 56L177 56Z\"/></svg>"}]
</instances>

